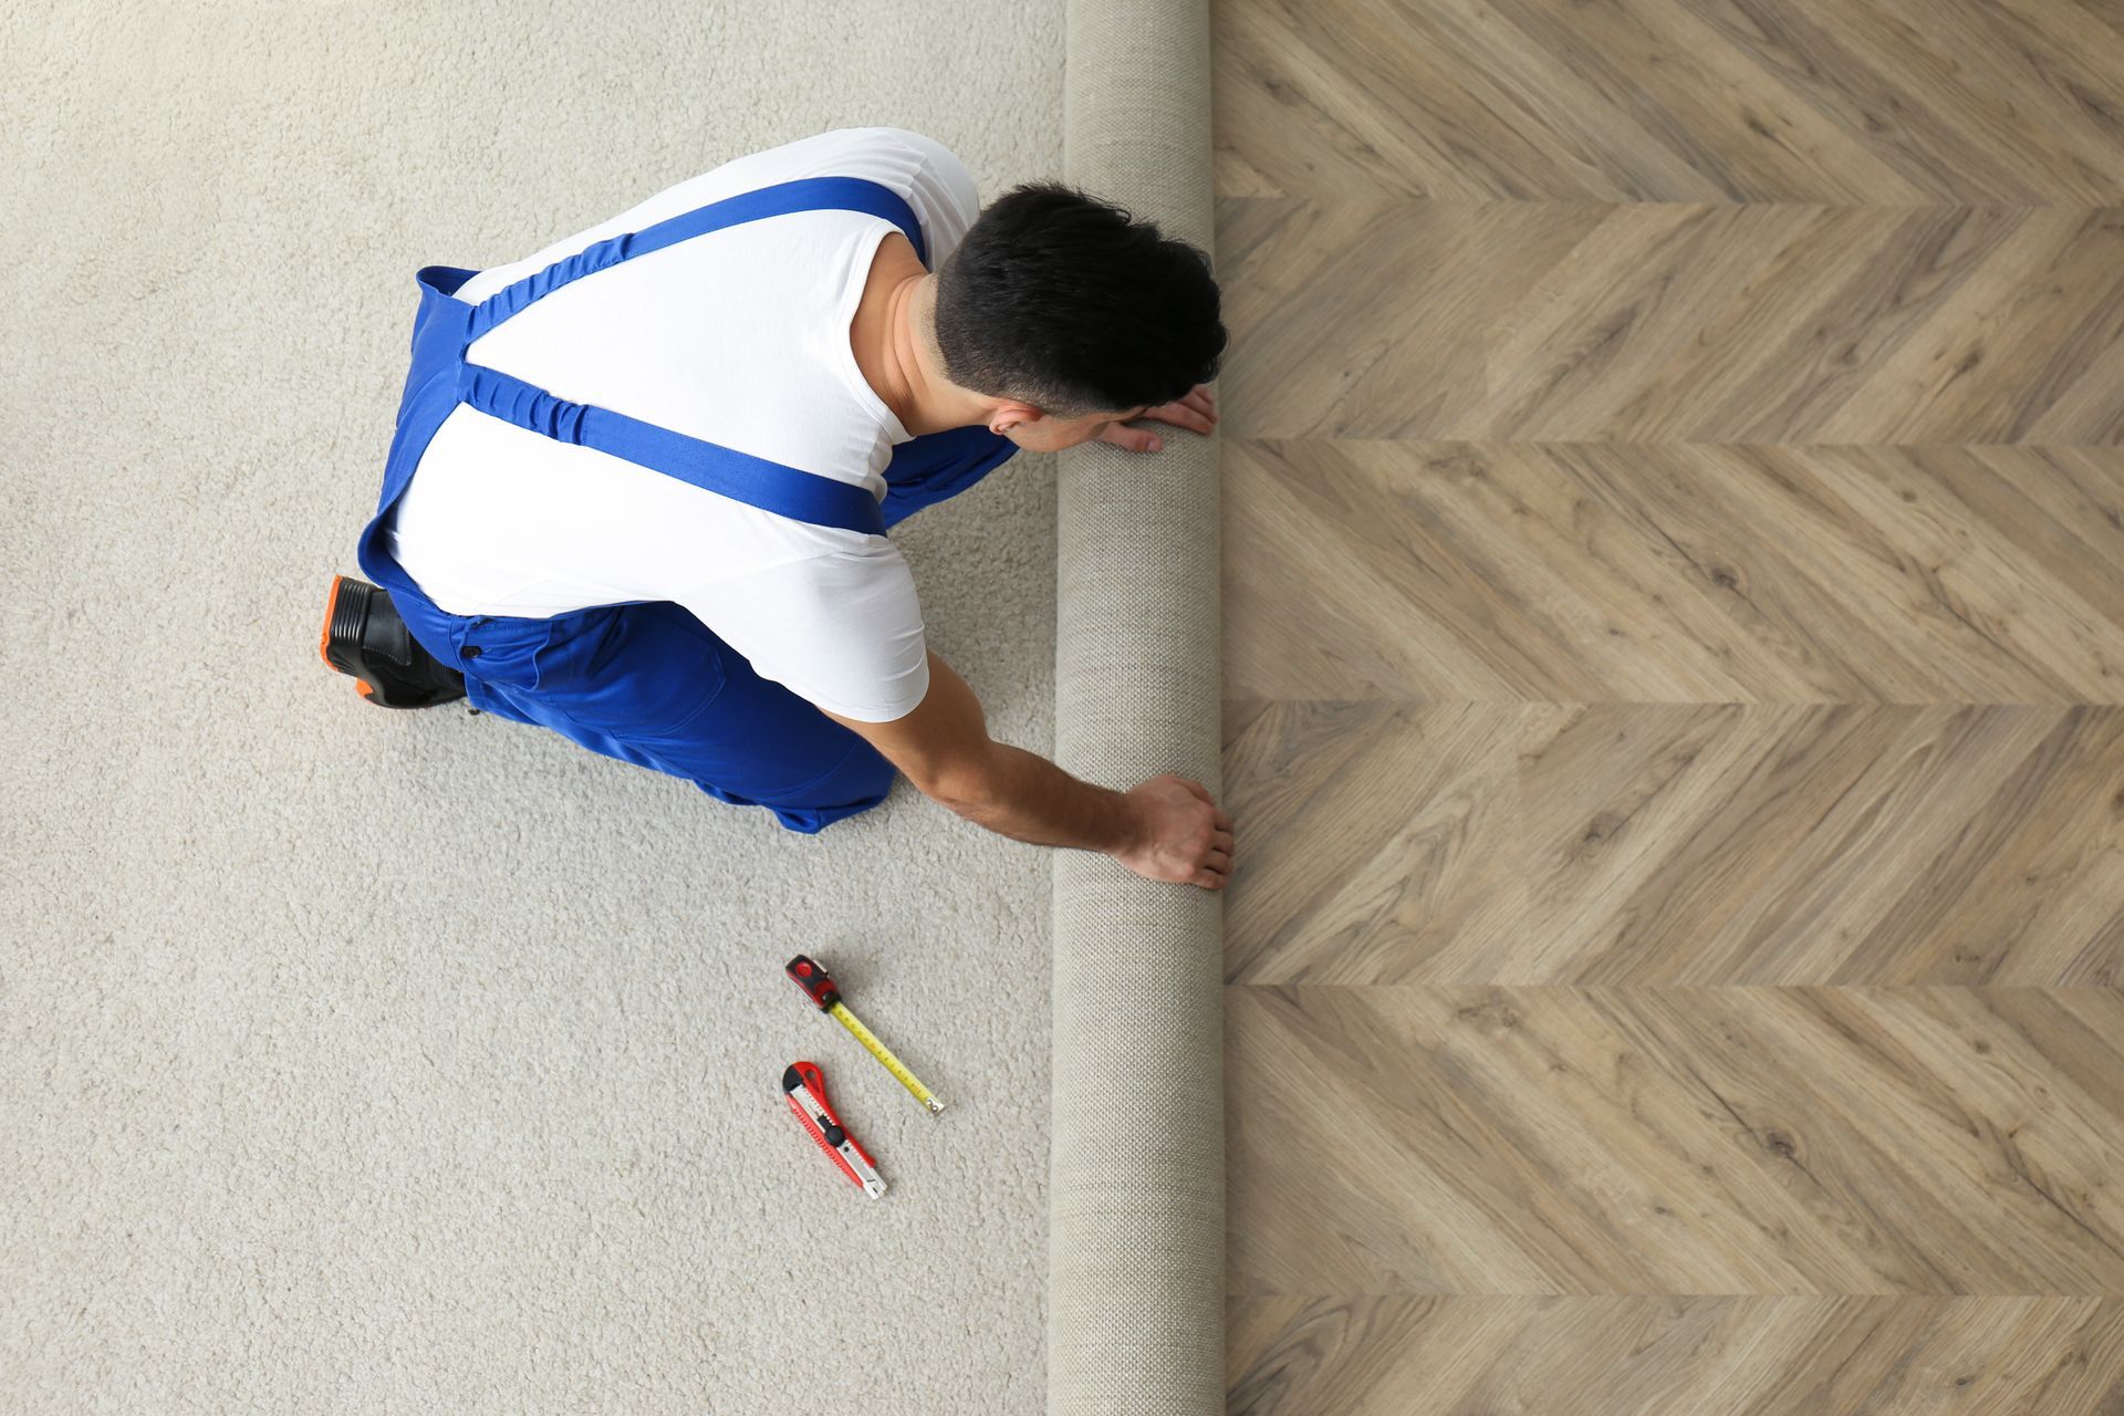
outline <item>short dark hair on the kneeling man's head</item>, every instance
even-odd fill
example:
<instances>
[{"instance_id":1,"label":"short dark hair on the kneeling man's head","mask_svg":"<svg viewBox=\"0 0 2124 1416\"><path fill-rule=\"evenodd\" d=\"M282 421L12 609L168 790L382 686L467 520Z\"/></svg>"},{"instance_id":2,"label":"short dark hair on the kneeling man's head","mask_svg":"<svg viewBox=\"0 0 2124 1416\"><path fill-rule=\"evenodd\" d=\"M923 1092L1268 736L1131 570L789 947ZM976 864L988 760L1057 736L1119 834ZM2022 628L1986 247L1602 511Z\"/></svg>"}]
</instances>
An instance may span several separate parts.
<instances>
[{"instance_id":1,"label":"short dark hair on the kneeling man's head","mask_svg":"<svg viewBox=\"0 0 2124 1416\"><path fill-rule=\"evenodd\" d=\"M1209 257L1062 183L990 202L937 272L945 376L1060 418L1170 403L1223 344Z\"/></svg>"}]
</instances>

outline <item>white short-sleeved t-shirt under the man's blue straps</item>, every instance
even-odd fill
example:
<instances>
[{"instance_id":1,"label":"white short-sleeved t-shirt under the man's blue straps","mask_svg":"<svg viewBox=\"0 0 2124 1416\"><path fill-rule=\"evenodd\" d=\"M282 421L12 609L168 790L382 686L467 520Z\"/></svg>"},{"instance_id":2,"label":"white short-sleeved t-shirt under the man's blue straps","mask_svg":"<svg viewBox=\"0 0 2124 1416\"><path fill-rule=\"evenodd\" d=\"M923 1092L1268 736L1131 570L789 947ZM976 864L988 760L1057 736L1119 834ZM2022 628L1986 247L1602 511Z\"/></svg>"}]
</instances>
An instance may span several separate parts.
<instances>
[{"instance_id":1,"label":"white short-sleeved t-shirt under the man's blue straps","mask_svg":"<svg viewBox=\"0 0 2124 1416\"><path fill-rule=\"evenodd\" d=\"M478 304L593 242L805 176L901 193L943 263L979 214L973 176L896 127L822 134L656 193L467 280ZM847 325L896 227L860 212L750 221L567 284L474 340L469 359L576 403L884 495L901 420L856 367ZM459 405L389 526L391 554L461 616L552 618L678 601L760 677L862 722L928 692L913 575L884 535L813 526Z\"/></svg>"}]
</instances>

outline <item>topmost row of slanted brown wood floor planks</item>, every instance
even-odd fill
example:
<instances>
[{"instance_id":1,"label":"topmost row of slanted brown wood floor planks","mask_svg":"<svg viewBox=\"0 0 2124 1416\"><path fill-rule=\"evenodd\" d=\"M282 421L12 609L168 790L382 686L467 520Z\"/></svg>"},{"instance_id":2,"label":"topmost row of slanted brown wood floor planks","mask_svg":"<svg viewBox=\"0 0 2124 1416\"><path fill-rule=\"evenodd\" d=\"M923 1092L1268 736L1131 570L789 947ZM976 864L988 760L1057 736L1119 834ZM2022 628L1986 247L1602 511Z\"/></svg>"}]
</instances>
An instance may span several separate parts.
<instances>
[{"instance_id":1,"label":"topmost row of slanted brown wood floor planks","mask_svg":"<svg viewBox=\"0 0 2124 1416\"><path fill-rule=\"evenodd\" d=\"M2113 0L1221 0L1215 23L1221 193L2124 202Z\"/></svg>"}]
</instances>

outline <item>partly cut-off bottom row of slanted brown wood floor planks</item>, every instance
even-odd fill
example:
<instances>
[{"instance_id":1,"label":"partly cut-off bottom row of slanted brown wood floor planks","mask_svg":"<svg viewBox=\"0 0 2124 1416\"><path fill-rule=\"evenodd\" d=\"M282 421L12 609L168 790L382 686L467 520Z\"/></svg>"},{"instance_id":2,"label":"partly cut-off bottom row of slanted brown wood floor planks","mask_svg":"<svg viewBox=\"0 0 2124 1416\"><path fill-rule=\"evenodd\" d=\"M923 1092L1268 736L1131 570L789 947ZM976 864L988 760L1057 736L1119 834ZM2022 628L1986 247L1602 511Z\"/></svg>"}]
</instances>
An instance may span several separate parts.
<instances>
[{"instance_id":1,"label":"partly cut-off bottom row of slanted brown wood floor planks","mask_svg":"<svg viewBox=\"0 0 2124 1416\"><path fill-rule=\"evenodd\" d=\"M2124 1301L1238 1297L1232 1416L2113 1416Z\"/></svg>"}]
</instances>

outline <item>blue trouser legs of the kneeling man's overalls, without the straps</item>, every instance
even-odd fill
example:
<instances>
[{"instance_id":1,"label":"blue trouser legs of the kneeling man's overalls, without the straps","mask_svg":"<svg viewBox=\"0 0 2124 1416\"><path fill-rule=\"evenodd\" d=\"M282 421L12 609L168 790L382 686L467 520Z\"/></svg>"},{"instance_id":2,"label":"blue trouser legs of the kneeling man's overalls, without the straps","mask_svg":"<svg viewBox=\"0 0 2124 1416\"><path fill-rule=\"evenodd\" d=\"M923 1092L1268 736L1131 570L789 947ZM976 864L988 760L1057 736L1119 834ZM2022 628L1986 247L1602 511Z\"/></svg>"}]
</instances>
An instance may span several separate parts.
<instances>
[{"instance_id":1,"label":"blue trouser legs of the kneeling man's overalls, without the straps","mask_svg":"<svg viewBox=\"0 0 2124 1416\"><path fill-rule=\"evenodd\" d=\"M979 427L901 444L886 522L966 490L1011 452ZM429 654L463 671L474 707L684 777L716 800L767 807L788 830L813 834L892 788L894 769L875 747L763 679L669 601L550 620L455 616L410 582L391 586L391 601Z\"/></svg>"}]
</instances>

